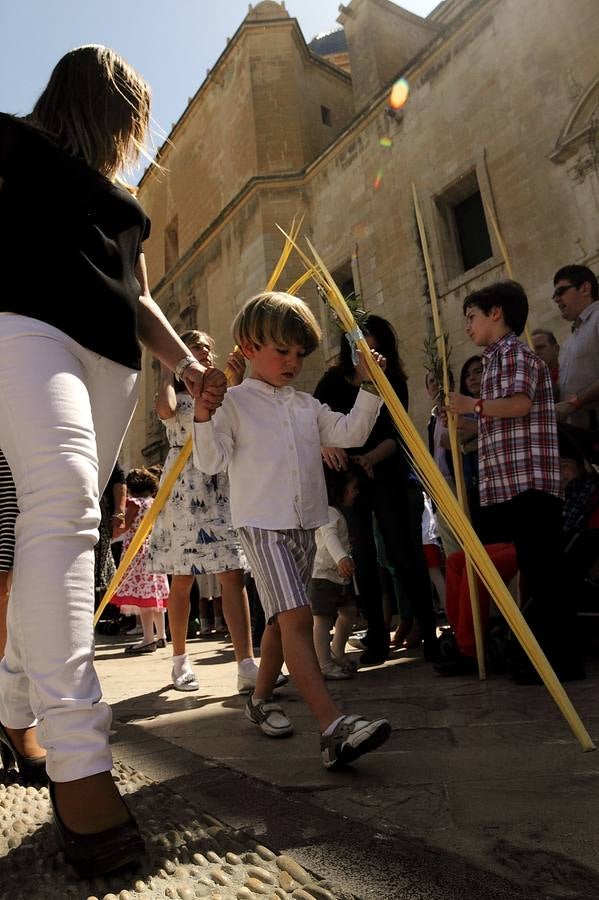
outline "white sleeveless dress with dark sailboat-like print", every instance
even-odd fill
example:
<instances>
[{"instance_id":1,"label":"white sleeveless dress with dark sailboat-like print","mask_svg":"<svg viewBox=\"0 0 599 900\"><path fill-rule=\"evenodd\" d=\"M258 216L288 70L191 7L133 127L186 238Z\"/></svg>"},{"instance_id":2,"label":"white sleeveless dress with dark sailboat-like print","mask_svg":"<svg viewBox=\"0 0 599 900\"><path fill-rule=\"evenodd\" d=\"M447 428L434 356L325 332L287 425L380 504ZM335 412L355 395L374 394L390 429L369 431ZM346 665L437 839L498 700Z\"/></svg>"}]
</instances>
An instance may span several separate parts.
<instances>
[{"instance_id":1,"label":"white sleeveless dress with dark sailboat-like print","mask_svg":"<svg viewBox=\"0 0 599 900\"><path fill-rule=\"evenodd\" d=\"M193 427L193 399L177 394L174 416L164 421L169 452L161 482L181 452ZM245 569L247 563L231 525L229 479L224 472L205 475L190 456L152 529L148 559L151 571L170 575L205 575Z\"/></svg>"}]
</instances>

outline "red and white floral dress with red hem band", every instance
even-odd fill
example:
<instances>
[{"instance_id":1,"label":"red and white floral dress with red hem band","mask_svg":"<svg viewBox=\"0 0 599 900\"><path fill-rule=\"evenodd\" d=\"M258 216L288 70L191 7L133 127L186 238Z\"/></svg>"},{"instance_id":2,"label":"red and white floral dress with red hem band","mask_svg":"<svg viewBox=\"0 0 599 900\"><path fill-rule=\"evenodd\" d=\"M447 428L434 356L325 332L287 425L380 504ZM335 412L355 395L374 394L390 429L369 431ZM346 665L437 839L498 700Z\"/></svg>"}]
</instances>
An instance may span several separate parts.
<instances>
[{"instance_id":1,"label":"red and white floral dress with red hem band","mask_svg":"<svg viewBox=\"0 0 599 900\"><path fill-rule=\"evenodd\" d=\"M123 537L123 556L153 502L153 497L129 497L127 500L128 505L134 504L137 507L137 512L131 528L125 532ZM148 542L149 539L146 538L110 601L115 606L120 606L121 611L126 614L136 612L140 608L164 609L166 607L169 594L168 578L166 575L156 575L149 570Z\"/></svg>"}]
</instances>

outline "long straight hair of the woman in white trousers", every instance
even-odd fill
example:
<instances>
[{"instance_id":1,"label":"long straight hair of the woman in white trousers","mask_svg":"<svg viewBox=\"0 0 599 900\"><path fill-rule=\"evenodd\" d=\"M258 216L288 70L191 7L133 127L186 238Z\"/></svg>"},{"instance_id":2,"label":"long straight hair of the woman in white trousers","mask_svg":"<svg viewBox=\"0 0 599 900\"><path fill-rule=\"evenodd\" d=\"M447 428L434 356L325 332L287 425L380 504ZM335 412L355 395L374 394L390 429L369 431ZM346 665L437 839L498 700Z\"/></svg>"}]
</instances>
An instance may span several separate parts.
<instances>
[{"instance_id":1,"label":"long straight hair of the woman in white trousers","mask_svg":"<svg viewBox=\"0 0 599 900\"><path fill-rule=\"evenodd\" d=\"M58 61L28 120L111 180L140 154L150 160L144 149L150 88L99 44L76 47Z\"/></svg>"}]
</instances>

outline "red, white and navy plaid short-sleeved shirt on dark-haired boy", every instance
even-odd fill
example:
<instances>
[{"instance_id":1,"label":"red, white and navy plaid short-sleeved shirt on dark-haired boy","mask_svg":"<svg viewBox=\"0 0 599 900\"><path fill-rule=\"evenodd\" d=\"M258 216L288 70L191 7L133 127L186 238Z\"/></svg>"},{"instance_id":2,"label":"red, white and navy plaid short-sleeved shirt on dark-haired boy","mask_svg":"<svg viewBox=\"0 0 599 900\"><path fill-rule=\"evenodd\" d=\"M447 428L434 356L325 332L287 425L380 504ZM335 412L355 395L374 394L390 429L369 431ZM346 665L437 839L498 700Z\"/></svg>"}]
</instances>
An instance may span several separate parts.
<instances>
[{"instance_id":1,"label":"red, white and navy plaid short-sleeved shirt on dark-haired boy","mask_svg":"<svg viewBox=\"0 0 599 900\"><path fill-rule=\"evenodd\" d=\"M481 506L505 503L524 491L561 497L555 409L549 369L513 331L483 353L482 400L526 394L528 415L481 416L478 465Z\"/></svg>"}]
</instances>

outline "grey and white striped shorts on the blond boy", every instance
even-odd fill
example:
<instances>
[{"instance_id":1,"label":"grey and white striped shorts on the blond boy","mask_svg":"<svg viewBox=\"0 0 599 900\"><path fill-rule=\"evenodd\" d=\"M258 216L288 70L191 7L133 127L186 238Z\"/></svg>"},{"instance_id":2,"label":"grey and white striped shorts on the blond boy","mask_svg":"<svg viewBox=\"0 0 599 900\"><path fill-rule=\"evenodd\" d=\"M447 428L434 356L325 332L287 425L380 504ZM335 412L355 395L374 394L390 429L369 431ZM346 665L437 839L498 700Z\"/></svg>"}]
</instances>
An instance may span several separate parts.
<instances>
[{"instance_id":1,"label":"grey and white striped shorts on the blond boy","mask_svg":"<svg viewBox=\"0 0 599 900\"><path fill-rule=\"evenodd\" d=\"M316 552L314 531L313 528L270 531L249 525L239 528L241 546L267 623L280 612L310 605L307 591Z\"/></svg>"}]
</instances>

